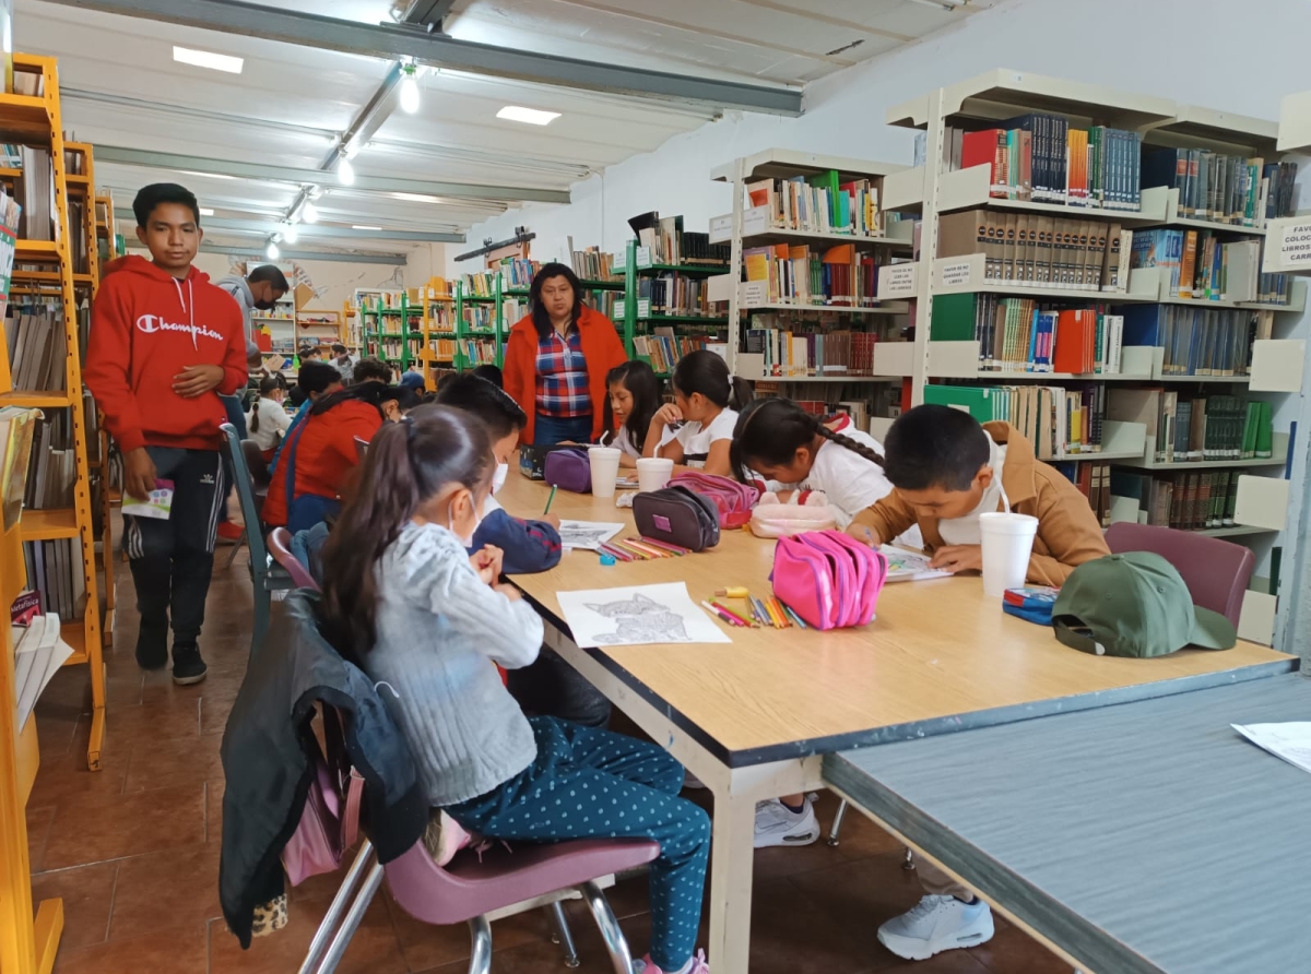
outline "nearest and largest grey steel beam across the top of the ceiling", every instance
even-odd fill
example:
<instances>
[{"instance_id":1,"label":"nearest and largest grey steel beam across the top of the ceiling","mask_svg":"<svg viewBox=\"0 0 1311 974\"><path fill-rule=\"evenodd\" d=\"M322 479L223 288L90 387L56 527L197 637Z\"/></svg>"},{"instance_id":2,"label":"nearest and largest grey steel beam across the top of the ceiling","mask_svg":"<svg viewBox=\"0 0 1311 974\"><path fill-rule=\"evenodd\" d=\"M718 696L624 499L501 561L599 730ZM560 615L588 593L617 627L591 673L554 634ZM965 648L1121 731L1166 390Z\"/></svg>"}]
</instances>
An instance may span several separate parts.
<instances>
[{"instance_id":1,"label":"nearest and largest grey steel beam across the top of the ceiling","mask_svg":"<svg viewBox=\"0 0 1311 974\"><path fill-rule=\"evenodd\" d=\"M560 58L540 51L458 41L416 26L391 24L375 26L338 17L262 7L243 0L51 0L51 3L342 54L388 60L409 58L418 64L564 88L616 92L638 98L673 98L711 105L720 110L742 109L775 115L801 114L801 90L797 88L721 81L578 58Z\"/></svg>"}]
</instances>

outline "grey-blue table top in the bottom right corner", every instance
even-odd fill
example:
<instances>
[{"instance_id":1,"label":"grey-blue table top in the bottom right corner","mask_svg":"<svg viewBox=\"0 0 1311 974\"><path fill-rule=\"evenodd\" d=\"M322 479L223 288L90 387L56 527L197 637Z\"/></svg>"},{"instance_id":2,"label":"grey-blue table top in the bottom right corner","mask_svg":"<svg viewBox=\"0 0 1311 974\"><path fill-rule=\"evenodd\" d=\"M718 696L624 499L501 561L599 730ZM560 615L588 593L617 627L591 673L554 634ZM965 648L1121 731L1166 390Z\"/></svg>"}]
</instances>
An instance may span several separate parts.
<instances>
[{"instance_id":1,"label":"grey-blue table top in the bottom right corner","mask_svg":"<svg viewBox=\"0 0 1311 974\"><path fill-rule=\"evenodd\" d=\"M1230 724L1308 713L1311 680L1276 676L829 755L823 776L1089 970L1289 974L1311 775Z\"/></svg>"}]
</instances>

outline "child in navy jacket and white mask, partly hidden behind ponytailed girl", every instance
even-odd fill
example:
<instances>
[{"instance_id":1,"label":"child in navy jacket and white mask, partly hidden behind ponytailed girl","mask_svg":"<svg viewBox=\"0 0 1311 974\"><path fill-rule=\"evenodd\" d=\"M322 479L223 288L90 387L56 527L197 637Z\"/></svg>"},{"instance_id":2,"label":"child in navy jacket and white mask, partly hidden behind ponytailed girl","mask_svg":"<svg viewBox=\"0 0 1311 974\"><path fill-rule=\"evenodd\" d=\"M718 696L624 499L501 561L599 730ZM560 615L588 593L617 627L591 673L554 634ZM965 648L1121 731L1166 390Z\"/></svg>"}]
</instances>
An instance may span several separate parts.
<instances>
[{"instance_id":1,"label":"child in navy jacket and white mask, partly hidden behind ponytailed girl","mask_svg":"<svg viewBox=\"0 0 1311 974\"><path fill-rule=\"evenodd\" d=\"M486 425L497 460L492 480L494 494L509 476L510 458L528 417L507 392L471 374L443 383L437 402L472 413ZM488 496L469 553L490 544L505 552L502 565L509 574L545 572L560 562L558 527L560 519L555 515L544 515L540 520L513 518ZM545 646L534 663L507 672L506 687L530 716L558 717L591 728L610 722L610 701L604 695Z\"/></svg>"}]
</instances>

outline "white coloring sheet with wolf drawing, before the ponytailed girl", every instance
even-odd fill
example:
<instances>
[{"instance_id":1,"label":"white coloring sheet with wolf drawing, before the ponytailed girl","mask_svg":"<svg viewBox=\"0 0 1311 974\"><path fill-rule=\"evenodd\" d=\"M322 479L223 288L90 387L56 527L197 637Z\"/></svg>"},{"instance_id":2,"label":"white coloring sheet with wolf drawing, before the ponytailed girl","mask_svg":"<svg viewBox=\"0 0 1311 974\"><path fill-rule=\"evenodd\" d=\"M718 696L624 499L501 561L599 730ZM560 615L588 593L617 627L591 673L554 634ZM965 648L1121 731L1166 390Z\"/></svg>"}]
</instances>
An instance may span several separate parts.
<instances>
[{"instance_id":1,"label":"white coloring sheet with wolf drawing, before the ponytailed girl","mask_svg":"<svg viewBox=\"0 0 1311 974\"><path fill-rule=\"evenodd\" d=\"M574 642L641 646L656 642L732 642L692 602L686 582L557 593Z\"/></svg>"}]
</instances>

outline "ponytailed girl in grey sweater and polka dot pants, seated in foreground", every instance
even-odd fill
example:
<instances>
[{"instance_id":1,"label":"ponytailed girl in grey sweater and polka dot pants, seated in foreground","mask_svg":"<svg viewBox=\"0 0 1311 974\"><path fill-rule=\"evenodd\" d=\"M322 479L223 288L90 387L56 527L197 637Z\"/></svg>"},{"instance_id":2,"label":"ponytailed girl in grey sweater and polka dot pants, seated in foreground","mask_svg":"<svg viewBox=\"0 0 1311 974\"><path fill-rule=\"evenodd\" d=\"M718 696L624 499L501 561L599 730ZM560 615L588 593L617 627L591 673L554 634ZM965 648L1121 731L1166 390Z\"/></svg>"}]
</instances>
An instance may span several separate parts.
<instances>
[{"instance_id":1,"label":"ponytailed girl in grey sweater and polka dot pants, seated in foreground","mask_svg":"<svg viewBox=\"0 0 1311 974\"><path fill-rule=\"evenodd\" d=\"M397 695L434 808L489 839L654 839L652 948L640 974L708 974L696 931L711 846L659 747L555 717L527 718L496 666L531 663L541 620L499 582L501 551L465 552L492 489L482 423L420 406L385 423L324 549L324 632Z\"/></svg>"}]
</instances>

